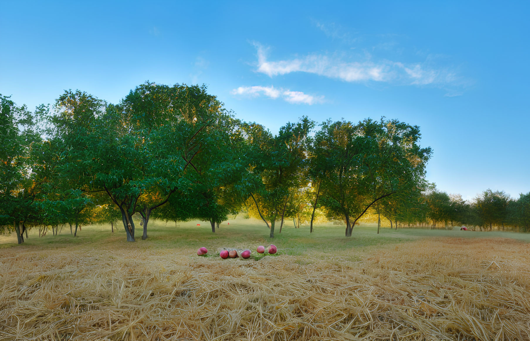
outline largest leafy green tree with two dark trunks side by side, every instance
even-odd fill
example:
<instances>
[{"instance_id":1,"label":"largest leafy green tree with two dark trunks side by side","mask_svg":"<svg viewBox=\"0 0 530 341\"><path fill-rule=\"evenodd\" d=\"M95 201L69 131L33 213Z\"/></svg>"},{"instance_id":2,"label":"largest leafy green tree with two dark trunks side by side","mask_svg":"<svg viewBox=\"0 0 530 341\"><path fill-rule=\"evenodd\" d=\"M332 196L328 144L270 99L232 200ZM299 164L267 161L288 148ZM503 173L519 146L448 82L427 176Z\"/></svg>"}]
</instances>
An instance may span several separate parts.
<instances>
[{"instance_id":1,"label":"largest leafy green tree with two dark trunks side by side","mask_svg":"<svg viewBox=\"0 0 530 341\"><path fill-rule=\"evenodd\" d=\"M152 211L187 182L188 169L197 169L205 128L224 112L204 86L154 83L138 86L119 105L67 91L56 108L54 137L67 151L63 176L84 193L107 194L128 241L135 241L136 212L147 238Z\"/></svg>"}]
</instances>

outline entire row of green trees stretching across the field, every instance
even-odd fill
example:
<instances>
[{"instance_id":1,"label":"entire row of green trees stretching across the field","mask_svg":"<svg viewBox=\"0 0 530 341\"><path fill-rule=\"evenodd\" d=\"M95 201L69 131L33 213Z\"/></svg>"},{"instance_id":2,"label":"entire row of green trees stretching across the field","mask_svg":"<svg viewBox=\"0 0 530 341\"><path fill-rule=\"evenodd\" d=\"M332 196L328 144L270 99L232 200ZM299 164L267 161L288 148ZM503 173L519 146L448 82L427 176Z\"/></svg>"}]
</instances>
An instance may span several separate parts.
<instances>
[{"instance_id":1,"label":"entire row of green trees stretching across the field","mask_svg":"<svg viewBox=\"0 0 530 341\"><path fill-rule=\"evenodd\" d=\"M529 228L529 197L485 191L473 203L432 189L418 126L398 120L314 121L277 135L234 117L205 86L144 83L118 104L65 91L34 111L0 95L0 233L39 235L119 222L135 241L152 218L208 221L246 211L274 236L367 215L401 226L440 222ZM444 226L445 226L444 225ZM117 226L116 226L117 227Z\"/></svg>"}]
</instances>

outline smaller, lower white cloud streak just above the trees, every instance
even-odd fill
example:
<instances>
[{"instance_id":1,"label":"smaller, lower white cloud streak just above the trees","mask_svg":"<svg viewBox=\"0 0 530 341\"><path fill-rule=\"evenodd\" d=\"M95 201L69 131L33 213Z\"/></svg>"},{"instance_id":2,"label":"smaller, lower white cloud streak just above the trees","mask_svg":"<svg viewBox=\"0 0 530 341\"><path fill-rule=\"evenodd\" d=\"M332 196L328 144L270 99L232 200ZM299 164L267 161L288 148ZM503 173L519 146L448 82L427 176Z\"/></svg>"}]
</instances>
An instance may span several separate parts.
<instances>
[{"instance_id":1,"label":"smaller, lower white cloud streak just above the trees","mask_svg":"<svg viewBox=\"0 0 530 341\"><path fill-rule=\"evenodd\" d=\"M291 91L284 90L281 88L275 88L274 86L240 86L237 89L232 90L234 95L250 95L251 97L260 97L264 95L266 97L277 99L281 98L286 102L293 104L312 104L322 103L324 96L313 96L303 93L302 91Z\"/></svg>"}]
</instances>

